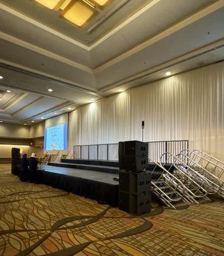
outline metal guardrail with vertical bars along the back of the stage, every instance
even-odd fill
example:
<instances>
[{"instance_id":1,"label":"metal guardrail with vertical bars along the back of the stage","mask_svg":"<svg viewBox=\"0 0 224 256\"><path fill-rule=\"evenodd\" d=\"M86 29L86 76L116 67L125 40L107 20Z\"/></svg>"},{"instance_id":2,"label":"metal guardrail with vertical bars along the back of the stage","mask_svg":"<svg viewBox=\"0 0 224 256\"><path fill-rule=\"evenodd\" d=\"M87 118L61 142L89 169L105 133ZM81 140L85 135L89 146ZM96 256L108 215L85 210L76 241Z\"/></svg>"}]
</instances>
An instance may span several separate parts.
<instances>
[{"instance_id":1,"label":"metal guardrail with vertical bars along the back of the stage","mask_svg":"<svg viewBox=\"0 0 224 256\"><path fill-rule=\"evenodd\" d=\"M173 155L182 150L188 150L188 140L150 141L148 143L148 157L159 163L160 157L165 152ZM118 143L75 145L73 157L76 159L118 161ZM167 162L167 156L163 156L163 163Z\"/></svg>"}]
</instances>

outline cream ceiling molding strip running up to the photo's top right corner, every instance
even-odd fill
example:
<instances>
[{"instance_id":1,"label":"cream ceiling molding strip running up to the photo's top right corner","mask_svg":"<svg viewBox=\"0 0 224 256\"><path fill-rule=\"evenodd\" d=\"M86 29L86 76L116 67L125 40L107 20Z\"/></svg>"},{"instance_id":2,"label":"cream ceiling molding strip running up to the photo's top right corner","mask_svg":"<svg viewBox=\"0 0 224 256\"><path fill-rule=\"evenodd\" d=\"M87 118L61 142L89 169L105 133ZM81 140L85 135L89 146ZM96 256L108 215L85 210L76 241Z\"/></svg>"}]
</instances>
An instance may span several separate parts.
<instances>
[{"instance_id":1,"label":"cream ceiling molding strip running up to the photo's top right corner","mask_svg":"<svg viewBox=\"0 0 224 256\"><path fill-rule=\"evenodd\" d=\"M196 20L202 19L203 17L215 12L216 10L223 8L223 6L224 6L224 0L218 0L217 2L211 4L207 7L205 7L204 9L194 13L193 15L187 17L186 19L181 20L180 22L174 24L173 26L171 26L170 28L157 34L156 36L153 36L152 38L148 39L147 41L143 42L142 44L137 45L136 47L132 48L131 50L124 52L123 54L120 54L116 58L95 68L93 70L94 73L96 74L98 72L102 72L106 68L109 68L109 67L115 65L116 63L118 63L122 60L125 60L129 56L132 56L133 54L136 54L136 53L142 51L143 49L149 47L150 45L155 44L156 42L159 42L163 38L166 38L167 36L172 35L173 33L179 31L180 29L182 29L190 24L193 24L194 22L196 22Z\"/></svg>"}]
</instances>

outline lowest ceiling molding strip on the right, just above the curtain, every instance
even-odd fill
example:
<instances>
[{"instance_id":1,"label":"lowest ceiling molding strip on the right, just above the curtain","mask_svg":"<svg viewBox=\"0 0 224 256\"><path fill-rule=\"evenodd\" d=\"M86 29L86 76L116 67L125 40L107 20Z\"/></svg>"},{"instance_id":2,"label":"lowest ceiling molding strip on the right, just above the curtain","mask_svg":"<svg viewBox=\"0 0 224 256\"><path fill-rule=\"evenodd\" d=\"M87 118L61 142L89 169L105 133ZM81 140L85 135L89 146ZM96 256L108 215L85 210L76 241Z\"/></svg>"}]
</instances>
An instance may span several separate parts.
<instances>
[{"instance_id":1,"label":"lowest ceiling molding strip on the right, just above the curtain","mask_svg":"<svg viewBox=\"0 0 224 256\"><path fill-rule=\"evenodd\" d=\"M196 49L195 51L188 52L187 54L184 54L184 55L182 55L178 58L175 58L173 60L166 61L165 63L157 65L156 67L149 68L143 72L135 74L134 76L130 76L130 77L122 79L116 83L109 84L108 86L104 86L104 87L100 88L99 91L100 92L108 92L109 90L113 90L118 86L128 85L128 83L131 83L133 81L138 81L138 79L141 79L146 76L150 76L150 75L155 74L156 72L159 72L161 70L171 68L175 65L178 65L185 61L191 60L193 58L197 58L198 56L202 56L204 54L207 54L208 52L215 51L216 49L220 49L221 47L224 47L224 38L221 40L218 40L217 42L214 42L212 44L205 45L204 47L202 47L200 49Z\"/></svg>"}]
</instances>

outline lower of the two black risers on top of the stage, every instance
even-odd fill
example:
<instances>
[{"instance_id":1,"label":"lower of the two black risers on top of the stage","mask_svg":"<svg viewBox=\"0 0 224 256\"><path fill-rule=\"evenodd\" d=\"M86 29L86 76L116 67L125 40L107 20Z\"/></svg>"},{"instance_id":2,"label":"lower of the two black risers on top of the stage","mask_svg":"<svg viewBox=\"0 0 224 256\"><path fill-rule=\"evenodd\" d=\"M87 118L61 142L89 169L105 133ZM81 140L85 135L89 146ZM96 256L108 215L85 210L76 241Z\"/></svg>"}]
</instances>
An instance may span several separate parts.
<instances>
[{"instance_id":1,"label":"lower of the two black risers on top of the stage","mask_svg":"<svg viewBox=\"0 0 224 256\"><path fill-rule=\"evenodd\" d=\"M87 171L96 171L96 172L106 172L106 173L119 173L118 167L113 166L102 166L102 165L95 165L95 164L77 164L77 163L54 163L50 162L49 165L57 166L57 167L64 167L64 168L75 168Z\"/></svg>"}]
</instances>

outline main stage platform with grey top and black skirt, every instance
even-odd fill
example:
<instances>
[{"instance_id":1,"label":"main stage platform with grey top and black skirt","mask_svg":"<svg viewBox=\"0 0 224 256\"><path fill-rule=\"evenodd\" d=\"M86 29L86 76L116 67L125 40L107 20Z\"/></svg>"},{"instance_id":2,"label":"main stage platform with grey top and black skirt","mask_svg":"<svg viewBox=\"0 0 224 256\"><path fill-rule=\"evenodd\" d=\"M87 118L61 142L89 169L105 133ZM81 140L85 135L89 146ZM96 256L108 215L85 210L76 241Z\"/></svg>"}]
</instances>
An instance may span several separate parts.
<instances>
[{"instance_id":1,"label":"main stage platform with grey top and black skirt","mask_svg":"<svg viewBox=\"0 0 224 256\"><path fill-rule=\"evenodd\" d=\"M100 204L118 205L119 182L113 180L113 178L118 177L118 174L102 172L102 170L100 172L90 170L94 166L89 166L89 170L83 170L77 166L75 168L71 168L71 166L69 168L61 167L64 166L63 163L51 164L58 164L60 167L52 165L42 167L44 170L42 182L44 184L97 200Z\"/></svg>"}]
</instances>

